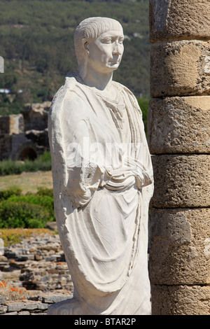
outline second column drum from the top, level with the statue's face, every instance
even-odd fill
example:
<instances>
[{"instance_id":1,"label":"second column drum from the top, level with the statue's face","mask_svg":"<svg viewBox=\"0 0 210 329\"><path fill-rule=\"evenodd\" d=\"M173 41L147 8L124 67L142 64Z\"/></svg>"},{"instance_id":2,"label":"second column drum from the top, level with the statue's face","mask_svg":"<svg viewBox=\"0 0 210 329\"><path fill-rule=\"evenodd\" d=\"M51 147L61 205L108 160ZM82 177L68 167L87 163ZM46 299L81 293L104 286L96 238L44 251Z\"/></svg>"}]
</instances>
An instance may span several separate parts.
<instances>
[{"instance_id":1,"label":"second column drum from the top, level with the statue's face","mask_svg":"<svg viewBox=\"0 0 210 329\"><path fill-rule=\"evenodd\" d=\"M152 45L151 97L210 94L209 65L207 41L169 41Z\"/></svg>"}]
</instances>

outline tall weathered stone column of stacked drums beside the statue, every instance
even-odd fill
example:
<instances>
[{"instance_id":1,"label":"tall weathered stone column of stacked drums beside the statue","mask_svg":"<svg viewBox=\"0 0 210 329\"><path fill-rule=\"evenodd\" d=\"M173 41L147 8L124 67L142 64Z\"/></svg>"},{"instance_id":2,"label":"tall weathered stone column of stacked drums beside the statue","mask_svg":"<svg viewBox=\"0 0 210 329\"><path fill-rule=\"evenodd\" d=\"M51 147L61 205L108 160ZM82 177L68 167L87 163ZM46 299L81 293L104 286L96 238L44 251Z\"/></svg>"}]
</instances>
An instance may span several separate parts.
<instances>
[{"instance_id":1,"label":"tall weathered stone column of stacked drums beside the statue","mask_svg":"<svg viewBox=\"0 0 210 329\"><path fill-rule=\"evenodd\" d=\"M153 315L210 314L210 4L151 0Z\"/></svg>"}]
</instances>

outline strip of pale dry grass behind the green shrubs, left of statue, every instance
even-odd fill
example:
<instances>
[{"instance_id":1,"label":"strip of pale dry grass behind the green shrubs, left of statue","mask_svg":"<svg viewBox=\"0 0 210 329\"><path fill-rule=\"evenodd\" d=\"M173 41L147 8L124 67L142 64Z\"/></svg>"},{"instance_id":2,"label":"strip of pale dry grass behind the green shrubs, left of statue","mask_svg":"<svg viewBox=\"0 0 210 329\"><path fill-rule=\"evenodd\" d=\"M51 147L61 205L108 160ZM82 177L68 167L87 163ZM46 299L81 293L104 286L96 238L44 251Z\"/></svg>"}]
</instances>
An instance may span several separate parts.
<instances>
[{"instance_id":1,"label":"strip of pale dry grass behind the green shrubs, left of statue","mask_svg":"<svg viewBox=\"0 0 210 329\"><path fill-rule=\"evenodd\" d=\"M21 188L22 193L36 193L38 187L52 188L52 172L22 172L20 175L0 176L0 190L12 186Z\"/></svg>"}]
</instances>

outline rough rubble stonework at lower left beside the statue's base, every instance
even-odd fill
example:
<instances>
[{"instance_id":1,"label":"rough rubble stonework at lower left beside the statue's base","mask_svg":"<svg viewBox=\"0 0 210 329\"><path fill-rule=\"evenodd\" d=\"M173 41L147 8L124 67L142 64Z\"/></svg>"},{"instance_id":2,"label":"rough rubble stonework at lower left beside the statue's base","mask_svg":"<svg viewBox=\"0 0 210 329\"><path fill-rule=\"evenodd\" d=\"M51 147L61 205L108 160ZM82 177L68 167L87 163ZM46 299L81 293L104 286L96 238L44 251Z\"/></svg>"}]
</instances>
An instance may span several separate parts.
<instances>
[{"instance_id":1,"label":"rough rubble stonework at lower left beside the statue's base","mask_svg":"<svg viewBox=\"0 0 210 329\"><path fill-rule=\"evenodd\" d=\"M57 234L32 235L4 251L0 262L1 315L45 315L49 304L73 297Z\"/></svg>"}]
</instances>

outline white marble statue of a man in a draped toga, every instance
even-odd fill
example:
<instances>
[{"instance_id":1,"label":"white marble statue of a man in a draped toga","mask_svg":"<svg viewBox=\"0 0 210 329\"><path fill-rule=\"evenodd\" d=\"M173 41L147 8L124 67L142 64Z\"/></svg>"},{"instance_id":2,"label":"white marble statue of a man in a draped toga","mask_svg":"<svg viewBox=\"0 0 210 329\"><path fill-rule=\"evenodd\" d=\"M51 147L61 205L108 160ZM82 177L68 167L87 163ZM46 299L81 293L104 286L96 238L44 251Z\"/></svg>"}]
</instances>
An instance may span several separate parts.
<instances>
[{"instance_id":1,"label":"white marble statue of a man in a draped toga","mask_svg":"<svg viewBox=\"0 0 210 329\"><path fill-rule=\"evenodd\" d=\"M78 69L50 108L55 216L74 292L48 314L151 312L153 169L137 99L113 81L123 39L116 20L83 20L74 38Z\"/></svg>"}]
</instances>

